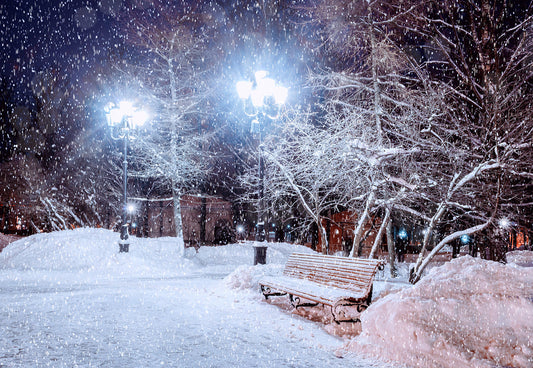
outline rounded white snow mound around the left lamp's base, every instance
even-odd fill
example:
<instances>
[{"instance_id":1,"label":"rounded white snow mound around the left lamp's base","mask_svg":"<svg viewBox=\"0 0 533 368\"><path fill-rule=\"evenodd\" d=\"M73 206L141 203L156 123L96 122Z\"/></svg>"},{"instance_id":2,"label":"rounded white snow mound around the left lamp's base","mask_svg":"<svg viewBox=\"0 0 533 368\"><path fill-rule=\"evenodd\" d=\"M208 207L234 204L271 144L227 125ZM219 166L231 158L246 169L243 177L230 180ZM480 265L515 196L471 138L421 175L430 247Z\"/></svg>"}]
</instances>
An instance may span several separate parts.
<instances>
[{"instance_id":1,"label":"rounded white snow mound around the left lamp's base","mask_svg":"<svg viewBox=\"0 0 533 368\"><path fill-rule=\"evenodd\" d=\"M175 238L130 237L130 251L118 252L119 234L105 229L80 228L29 236L0 253L0 269L17 271L98 271L99 273L161 275L186 266Z\"/></svg>"}]
</instances>

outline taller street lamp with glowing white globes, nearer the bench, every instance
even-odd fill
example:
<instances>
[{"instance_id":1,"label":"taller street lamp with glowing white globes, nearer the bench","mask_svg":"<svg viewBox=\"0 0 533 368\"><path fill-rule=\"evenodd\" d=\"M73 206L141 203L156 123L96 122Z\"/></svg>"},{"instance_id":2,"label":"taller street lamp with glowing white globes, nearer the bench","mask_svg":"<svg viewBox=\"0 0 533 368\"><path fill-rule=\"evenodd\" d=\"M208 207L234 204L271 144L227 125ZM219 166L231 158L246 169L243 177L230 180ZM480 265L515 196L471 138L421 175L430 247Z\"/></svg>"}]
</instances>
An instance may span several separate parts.
<instances>
[{"instance_id":1,"label":"taller street lamp with glowing white globes, nearer the bench","mask_svg":"<svg viewBox=\"0 0 533 368\"><path fill-rule=\"evenodd\" d=\"M274 79L268 78L268 72L257 71L253 81L240 81L236 84L237 94L244 104L244 113L254 117L251 125L251 132L259 137L259 147L262 143L261 120L269 118L275 120L279 117L281 106L285 104L288 96L288 89L276 83ZM259 160L259 197L258 214L255 240L265 241L264 216L264 167L261 151L258 154Z\"/></svg>"}]
</instances>

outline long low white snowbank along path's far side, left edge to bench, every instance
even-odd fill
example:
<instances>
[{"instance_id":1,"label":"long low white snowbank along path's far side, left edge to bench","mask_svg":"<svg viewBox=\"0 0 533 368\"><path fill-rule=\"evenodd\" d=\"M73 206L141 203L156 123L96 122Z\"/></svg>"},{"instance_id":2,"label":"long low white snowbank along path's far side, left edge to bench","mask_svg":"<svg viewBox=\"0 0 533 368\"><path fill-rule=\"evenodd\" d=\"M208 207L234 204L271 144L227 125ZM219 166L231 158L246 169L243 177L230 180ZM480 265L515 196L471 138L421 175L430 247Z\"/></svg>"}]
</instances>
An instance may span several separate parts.
<instances>
[{"instance_id":1,"label":"long low white snowbank along path's far side, left edge to bench","mask_svg":"<svg viewBox=\"0 0 533 368\"><path fill-rule=\"evenodd\" d=\"M12 242L0 253L0 270L12 271L11 277L45 277L96 274L104 277L171 277L184 274L226 276L241 267L253 265L254 242L220 247L187 249L180 255L178 238L130 237L128 253L118 252L119 234L105 229L80 228L36 234ZM267 263L284 265L292 252L310 249L287 243L268 243ZM276 266L272 266L276 269ZM260 267L257 268L258 270ZM262 271L258 271L261 274ZM274 271L275 272L275 271ZM9 273L4 273L6 277ZM92 275L94 276L94 275ZM235 276L235 282L240 276ZM252 287L253 282L247 287ZM242 288L242 287L236 287Z\"/></svg>"}]
</instances>

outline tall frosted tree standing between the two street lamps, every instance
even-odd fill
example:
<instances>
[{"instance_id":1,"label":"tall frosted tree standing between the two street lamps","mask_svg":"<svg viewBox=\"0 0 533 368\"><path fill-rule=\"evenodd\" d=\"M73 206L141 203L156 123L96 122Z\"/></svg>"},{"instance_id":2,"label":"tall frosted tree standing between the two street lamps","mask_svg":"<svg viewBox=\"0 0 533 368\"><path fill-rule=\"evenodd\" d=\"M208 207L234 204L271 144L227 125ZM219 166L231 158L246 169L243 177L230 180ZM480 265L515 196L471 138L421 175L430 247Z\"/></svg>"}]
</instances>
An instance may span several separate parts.
<instances>
[{"instance_id":1,"label":"tall frosted tree standing between the two street lamps","mask_svg":"<svg viewBox=\"0 0 533 368\"><path fill-rule=\"evenodd\" d=\"M179 199L205 177L202 156L209 134L205 118L212 54L207 52L208 21L199 9L157 3L128 22L129 40L144 57L125 67L149 101L157 119L134 145L133 175L159 180L172 192L176 236L181 236ZM131 16L131 14L130 14Z\"/></svg>"}]
</instances>

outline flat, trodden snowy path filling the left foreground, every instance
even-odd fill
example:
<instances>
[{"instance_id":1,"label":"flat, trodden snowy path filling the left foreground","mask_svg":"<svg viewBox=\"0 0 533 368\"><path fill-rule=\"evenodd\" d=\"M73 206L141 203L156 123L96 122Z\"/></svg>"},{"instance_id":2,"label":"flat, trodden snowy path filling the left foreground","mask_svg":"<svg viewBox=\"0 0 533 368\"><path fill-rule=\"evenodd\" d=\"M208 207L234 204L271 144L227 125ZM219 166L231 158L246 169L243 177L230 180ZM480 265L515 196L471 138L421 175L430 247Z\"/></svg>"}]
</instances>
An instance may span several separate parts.
<instances>
[{"instance_id":1,"label":"flat, trodden snowy path filling the left foreground","mask_svg":"<svg viewBox=\"0 0 533 368\"><path fill-rule=\"evenodd\" d=\"M4 279L0 367L384 367L221 277Z\"/></svg>"}]
</instances>

